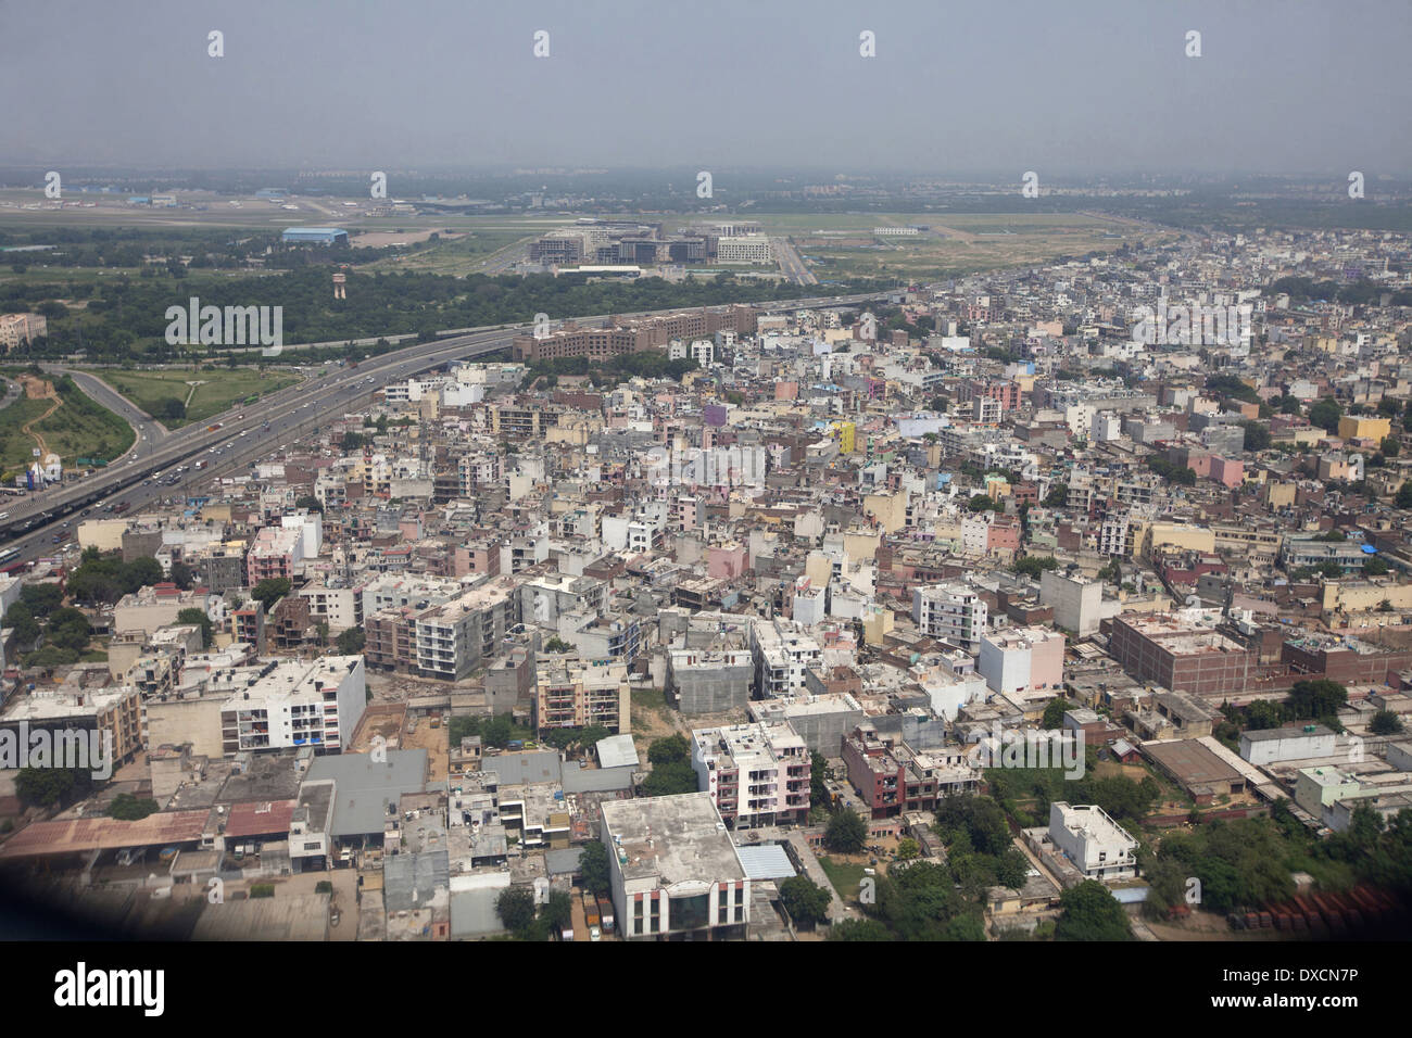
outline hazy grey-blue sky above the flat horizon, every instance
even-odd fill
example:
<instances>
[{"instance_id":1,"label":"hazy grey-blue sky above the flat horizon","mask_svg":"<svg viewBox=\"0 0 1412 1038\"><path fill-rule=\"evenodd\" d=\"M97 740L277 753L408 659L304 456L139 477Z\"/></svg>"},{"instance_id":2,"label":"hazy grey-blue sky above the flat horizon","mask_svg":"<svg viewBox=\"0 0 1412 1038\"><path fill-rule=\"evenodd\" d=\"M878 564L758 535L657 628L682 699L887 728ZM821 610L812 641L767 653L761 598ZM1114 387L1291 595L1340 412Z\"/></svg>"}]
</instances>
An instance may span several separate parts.
<instances>
[{"instance_id":1,"label":"hazy grey-blue sky above the flat horizon","mask_svg":"<svg viewBox=\"0 0 1412 1038\"><path fill-rule=\"evenodd\" d=\"M1406 0L0 0L0 157L1371 179L1409 45Z\"/></svg>"}]
</instances>

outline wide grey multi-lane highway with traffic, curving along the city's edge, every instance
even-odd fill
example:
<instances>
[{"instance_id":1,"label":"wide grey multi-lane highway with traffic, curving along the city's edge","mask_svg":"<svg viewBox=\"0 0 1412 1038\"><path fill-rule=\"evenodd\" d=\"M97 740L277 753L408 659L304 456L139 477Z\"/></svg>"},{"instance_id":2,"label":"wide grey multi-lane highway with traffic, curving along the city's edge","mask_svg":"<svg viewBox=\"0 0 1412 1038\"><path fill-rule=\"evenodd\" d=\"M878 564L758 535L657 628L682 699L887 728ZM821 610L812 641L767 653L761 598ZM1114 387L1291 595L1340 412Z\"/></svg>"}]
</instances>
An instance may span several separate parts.
<instances>
[{"instance_id":1,"label":"wide grey multi-lane highway with traffic, curving along the city's edge","mask_svg":"<svg viewBox=\"0 0 1412 1038\"><path fill-rule=\"evenodd\" d=\"M891 294L785 299L755 306L765 311L844 306ZM688 308L674 306L621 316L645 318L679 314L683 309ZM606 321L607 315L600 315L579 318L578 323L583 328L600 328ZM123 401L121 407L113 410L138 422L137 448L112 466L78 482L54 486L27 499L0 499L0 511L8 513L0 524L3 547L18 548L20 559L24 561L58 555L61 548L55 538L72 534L82 518L109 514L110 506L127 504L127 511L136 513L152 503L182 500L193 489L192 484L203 484L232 472L246 472L254 459L316 432L332 418L361 410L360 405L388 383L450 362L508 349L514 336L530 332L530 325L500 325L369 357L357 367L330 366L326 374L287 386L254 404L233 407L201 425L152 439L143 439L143 429L148 429L147 435L151 436L155 422ZM92 376L85 377L102 388L80 383L83 390L113 407L109 400L116 394ZM75 374L75 380L78 378ZM195 469L198 460L205 460L206 467ZM72 544L72 538L66 544Z\"/></svg>"}]
</instances>

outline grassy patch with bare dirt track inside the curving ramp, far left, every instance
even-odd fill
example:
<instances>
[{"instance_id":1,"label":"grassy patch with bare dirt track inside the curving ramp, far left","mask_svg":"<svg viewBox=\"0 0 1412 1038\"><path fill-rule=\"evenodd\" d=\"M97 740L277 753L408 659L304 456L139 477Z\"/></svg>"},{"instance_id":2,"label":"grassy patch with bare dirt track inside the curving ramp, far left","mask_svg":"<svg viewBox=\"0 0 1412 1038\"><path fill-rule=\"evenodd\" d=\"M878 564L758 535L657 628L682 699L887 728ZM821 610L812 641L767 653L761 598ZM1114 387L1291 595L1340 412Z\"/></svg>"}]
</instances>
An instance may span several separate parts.
<instances>
[{"instance_id":1,"label":"grassy patch with bare dirt track inside the curving ramp, far left","mask_svg":"<svg viewBox=\"0 0 1412 1038\"><path fill-rule=\"evenodd\" d=\"M54 404L51 398L21 397L0 410L0 467L6 475L34 460L40 439L44 449L59 455L65 465L78 458L113 460L133 446L137 436L133 426L78 387L62 393L58 407ZM52 414L40 419L51 408ZM27 425L30 432L25 432ZM38 434L40 439L31 434Z\"/></svg>"}]
</instances>

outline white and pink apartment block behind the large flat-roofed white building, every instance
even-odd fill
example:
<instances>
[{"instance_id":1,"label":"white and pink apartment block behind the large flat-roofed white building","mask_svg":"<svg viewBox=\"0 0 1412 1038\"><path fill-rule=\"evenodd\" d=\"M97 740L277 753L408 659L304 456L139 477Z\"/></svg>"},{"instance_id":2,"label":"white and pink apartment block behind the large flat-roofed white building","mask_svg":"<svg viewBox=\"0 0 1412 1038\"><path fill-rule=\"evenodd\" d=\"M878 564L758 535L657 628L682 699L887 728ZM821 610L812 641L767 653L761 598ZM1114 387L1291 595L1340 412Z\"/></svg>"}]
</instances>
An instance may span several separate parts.
<instances>
[{"instance_id":1,"label":"white and pink apartment block behind the large flat-roofed white building","mask_svg":"<svg viewBox=\"0 0 1412 1038\"><path fill-rule=\"evenodd\" d=\"M788 722L693 729L692 768L731 828L808 821L809 747Z\"/></svg>"}]
</instances>

